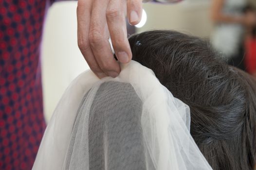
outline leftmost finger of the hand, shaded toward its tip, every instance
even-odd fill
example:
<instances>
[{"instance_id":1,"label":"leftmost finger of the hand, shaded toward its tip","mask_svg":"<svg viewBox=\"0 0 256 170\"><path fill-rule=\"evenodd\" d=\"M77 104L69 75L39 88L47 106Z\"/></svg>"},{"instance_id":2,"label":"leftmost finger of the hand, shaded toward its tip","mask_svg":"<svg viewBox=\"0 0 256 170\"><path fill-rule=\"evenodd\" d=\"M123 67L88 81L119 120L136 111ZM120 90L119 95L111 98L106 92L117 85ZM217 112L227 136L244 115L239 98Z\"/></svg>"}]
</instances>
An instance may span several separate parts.
<instances>
[{"instance_id":1,"label":"leftmost finger of the hand, shaded toward its tip","mask_svg":"<svg viewBox=\"0 0 256 170\"><path fill-rule=\"evenodd\" d=\"M82 52L85 60L91 70L99 77L103 78L107 75L99 67L94 55L91 51L89 43L89 27L91 18L91 2L92 0L78 0L77 2L77 41L78 47Z\"/></svg>"}]
</instances>

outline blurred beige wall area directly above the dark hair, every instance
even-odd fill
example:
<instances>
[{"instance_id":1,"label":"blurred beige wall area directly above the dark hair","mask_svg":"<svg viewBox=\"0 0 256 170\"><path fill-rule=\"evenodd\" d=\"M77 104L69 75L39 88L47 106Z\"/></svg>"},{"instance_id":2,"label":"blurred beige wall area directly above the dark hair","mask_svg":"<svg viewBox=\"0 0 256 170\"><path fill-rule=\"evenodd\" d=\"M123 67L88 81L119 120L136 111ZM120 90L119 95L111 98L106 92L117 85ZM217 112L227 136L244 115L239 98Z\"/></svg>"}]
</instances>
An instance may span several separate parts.
<instances>
[{"instance_id":1,"label":"blurred beige wall area directly above the dark hair","mask_svg":"<svg viewBox=\"0 0 256 170\"><path fill-rule=\"evenodd\" d=\"M175 4L145 3L147 22L138 32L172 29L186 34L208 37L213 29L210 0L184 0Z\"/></svg>"}]
</instances>

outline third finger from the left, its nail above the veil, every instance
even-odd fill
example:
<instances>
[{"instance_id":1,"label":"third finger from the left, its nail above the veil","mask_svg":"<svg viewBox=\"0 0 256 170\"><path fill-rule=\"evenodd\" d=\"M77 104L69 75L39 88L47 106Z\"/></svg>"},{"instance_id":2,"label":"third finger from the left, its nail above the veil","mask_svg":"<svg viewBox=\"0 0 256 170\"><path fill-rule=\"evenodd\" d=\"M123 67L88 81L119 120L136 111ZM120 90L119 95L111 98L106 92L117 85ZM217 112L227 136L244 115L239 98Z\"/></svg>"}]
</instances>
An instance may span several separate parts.
<instances>
[{"instance_id":1,"label":"third finger from the left, its nail above the veil","mask_svg":"<svg viewBox=\"0 0 256 170\"><path fill-rule=\"evenodd\" d=\"M113 49L121 63L128 63L131 60L127 29L126 29L126 0L110 0L106 11L108 28L113 45Z\"/></svg>"}]
</instances>

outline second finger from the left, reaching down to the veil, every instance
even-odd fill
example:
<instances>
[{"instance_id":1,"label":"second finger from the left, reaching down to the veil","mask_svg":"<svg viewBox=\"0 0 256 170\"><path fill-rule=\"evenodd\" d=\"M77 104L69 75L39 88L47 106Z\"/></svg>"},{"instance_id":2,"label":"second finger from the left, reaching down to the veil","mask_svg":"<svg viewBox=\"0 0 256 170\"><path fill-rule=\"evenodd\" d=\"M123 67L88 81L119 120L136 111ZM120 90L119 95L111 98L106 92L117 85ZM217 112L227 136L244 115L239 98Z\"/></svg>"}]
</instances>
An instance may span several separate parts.
<instances>
[{"instance_id":1,"label":"second finger from the left, reaching down to the veil","mask_svg":"<svg viewBox=\"0 0 256 170\"><path fill-rule=\"evenodd\" d=\"M109 0L93 0L89 42L95 60L101 70L111 77L116 77L120 73L121 68L113 57L109 43L110 34L106 20L108 3Z\"/></svg>"}]
</instances>

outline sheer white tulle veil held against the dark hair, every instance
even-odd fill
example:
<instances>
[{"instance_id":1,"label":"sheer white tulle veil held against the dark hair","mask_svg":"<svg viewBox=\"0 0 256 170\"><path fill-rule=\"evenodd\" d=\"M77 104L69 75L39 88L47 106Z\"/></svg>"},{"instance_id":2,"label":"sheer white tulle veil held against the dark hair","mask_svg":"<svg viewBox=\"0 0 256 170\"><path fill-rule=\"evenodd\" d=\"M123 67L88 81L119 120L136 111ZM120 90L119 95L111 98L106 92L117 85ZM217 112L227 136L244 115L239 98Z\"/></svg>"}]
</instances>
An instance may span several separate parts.
<instances>
[{"instance_id":1,"label":"sheer white tulle veil held against the dark hair","mask_svg":"<svg viewBox=\"0 0 256 170\"><path fill-rule=\"evenodd\" d=\"M118 118L126 113L124 119L116 119L119 111ZM97 161L105 170L212 170L189 127L189 107L174 98L152 70L131 61L122 65L117 78L101 80L89 70L73 81L58 103L33 170L98 170L92 166ZM92 160L95 154L103 160ZM139 164L143 168L136 167Z\"/></svg>"}]
</instances>

